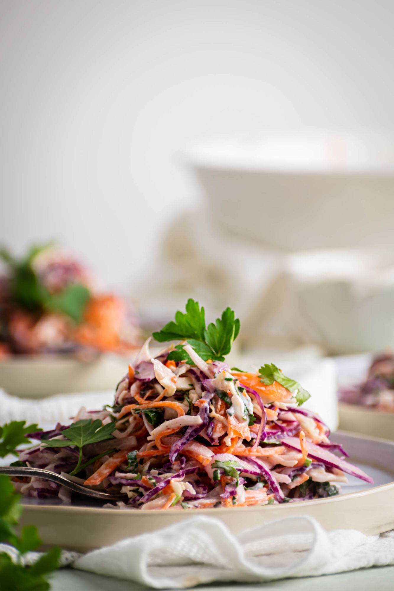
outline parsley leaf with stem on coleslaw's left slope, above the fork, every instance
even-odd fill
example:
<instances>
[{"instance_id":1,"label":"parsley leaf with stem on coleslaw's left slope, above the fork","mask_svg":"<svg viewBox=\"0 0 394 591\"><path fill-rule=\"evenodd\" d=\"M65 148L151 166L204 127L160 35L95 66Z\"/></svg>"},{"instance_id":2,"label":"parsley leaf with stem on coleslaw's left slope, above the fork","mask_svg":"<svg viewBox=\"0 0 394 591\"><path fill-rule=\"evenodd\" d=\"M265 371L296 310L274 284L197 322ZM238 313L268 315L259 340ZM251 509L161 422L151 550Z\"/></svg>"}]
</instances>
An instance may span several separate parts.
<instances>
[{"instance_id":1,"label":"parsley leaf with stem on coleslaw's left slope, above the fork","mask_svg":"<svg viewBox=\"0 0 394 591\"><path fill-rule=\"evenodd\" d=\"M93 462L98 460L103 455L109 453L109 450L99 454L88 460L82 464L82 450L83 447L88 445L88 443L98 443L99 441L104 441L106 439L114 439L111 435L112 431L116 428L115 423L108 423L106 425L102 424L102 421L99 418L96 418L95 421L92 421L89 418L82 419L73 423L69 426L69 428L64 429L62 431L62 435L66 437L66 439L48 439L43 441L42 443L47 447L69 447L75 446L79 450L79 459L75 469L70 472L71 476L74 476L82 469L85 469L87 466L91 465Z\"/></svg>"}]
</instances>

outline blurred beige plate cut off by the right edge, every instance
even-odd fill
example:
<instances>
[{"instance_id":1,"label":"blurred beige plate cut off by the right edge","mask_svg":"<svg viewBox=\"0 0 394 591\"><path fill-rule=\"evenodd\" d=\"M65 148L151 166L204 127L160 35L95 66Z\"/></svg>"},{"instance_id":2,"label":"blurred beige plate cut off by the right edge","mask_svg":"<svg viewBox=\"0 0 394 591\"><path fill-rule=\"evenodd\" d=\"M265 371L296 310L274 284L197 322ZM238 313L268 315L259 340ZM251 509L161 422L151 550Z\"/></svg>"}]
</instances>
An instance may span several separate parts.
<instances>
[{"instance_id":1,"label":"blurred beige plate cut off by the right edge","mask_svg":"<svg viewBox=\"0 0 394 591\"><path fill-rule=\"evenodd\" d=\"M342 430L394 441L394 413L345 402L339 403L338 411Z\"/></svg>"}]
</instances>

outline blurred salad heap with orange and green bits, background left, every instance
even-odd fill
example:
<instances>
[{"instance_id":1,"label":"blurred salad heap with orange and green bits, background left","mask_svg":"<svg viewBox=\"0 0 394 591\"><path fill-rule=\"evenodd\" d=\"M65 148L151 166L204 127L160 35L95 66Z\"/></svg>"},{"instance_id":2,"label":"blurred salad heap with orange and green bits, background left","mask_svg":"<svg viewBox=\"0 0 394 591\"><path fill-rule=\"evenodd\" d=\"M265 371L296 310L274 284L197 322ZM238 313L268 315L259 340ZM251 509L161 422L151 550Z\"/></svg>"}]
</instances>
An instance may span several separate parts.
<instances>
[{"instance_id":1,"label":"blurred salad heap with orange and green bits, background left","mask_svg":"<svg viewBox=\"0 0 394 591\"><path fill-rule=\"evenodd\" d=\"M0 249L0 359L31 353L129 353L140 342L131 306L97 293L85 267L53 243L21 258Z\"/></svg>"}]
</instances>

